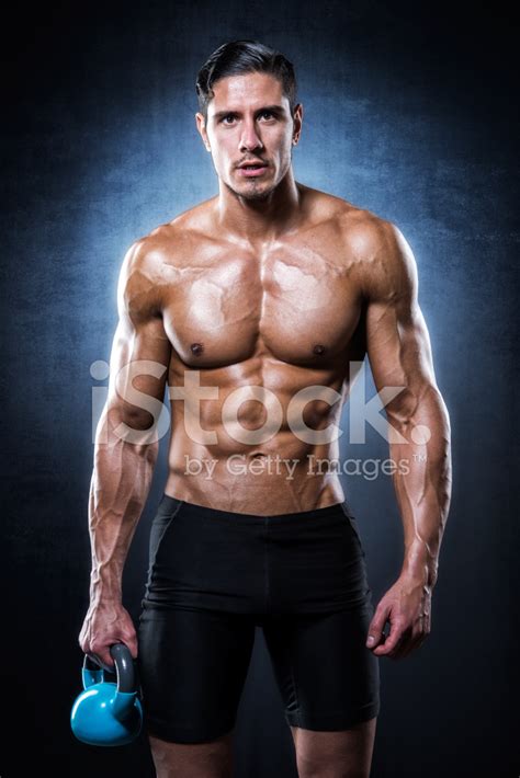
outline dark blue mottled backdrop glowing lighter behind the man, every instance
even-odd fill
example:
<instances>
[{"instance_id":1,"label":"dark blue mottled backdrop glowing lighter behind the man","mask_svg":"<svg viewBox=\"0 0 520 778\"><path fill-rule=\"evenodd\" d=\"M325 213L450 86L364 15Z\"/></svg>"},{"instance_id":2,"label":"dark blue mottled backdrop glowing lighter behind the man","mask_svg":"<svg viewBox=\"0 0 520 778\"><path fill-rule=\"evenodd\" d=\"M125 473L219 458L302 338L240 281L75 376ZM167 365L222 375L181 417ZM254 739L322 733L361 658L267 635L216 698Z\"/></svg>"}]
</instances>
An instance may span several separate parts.
<instances>
[{"instance_id":1,"label":"dark blue mottled backdrop glowing lighter behind the man","mask_svg":"<svg viewBox=\"0 0 520 778\"><path fill-rule=\"evenodd\" d=\"M296 67L296 180L393 220L408 239L451 414L454 495L432 633L404 662L381 660L372 775L517 775L510 21L495 7L308 0L35 14L15 10L2 53L2 778L29 775L33 755L54 776L152 775L144 740L100 751L68 726L88 606L91 392L106 385L90 366L110 354L128 245L217 192L195 133L194 81L208 54L237 37L279 47ZM347 444L342 453L358 456ZM384 442L369 436L362 456L386 457ZM135 618L165 476L161 459L125 570ZM377 600L402 562L392 483L343 484ZM236 733L238 778L295 775L260 634Z\"/></svg>"}]
</instances>

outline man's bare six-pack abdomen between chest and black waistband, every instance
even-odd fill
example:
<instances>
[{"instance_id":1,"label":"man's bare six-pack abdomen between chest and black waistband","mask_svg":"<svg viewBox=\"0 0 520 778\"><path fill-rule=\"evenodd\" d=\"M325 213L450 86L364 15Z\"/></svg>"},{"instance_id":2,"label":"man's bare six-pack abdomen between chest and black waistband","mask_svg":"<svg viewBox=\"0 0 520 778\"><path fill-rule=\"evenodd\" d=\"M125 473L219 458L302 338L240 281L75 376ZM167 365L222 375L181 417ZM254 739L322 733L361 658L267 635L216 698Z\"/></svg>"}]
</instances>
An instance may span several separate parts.
<instances>
[{"instance_id":1,"label":"man's bare six-pack abdomen between chest and black waistband","mask_svg":"<svg viewBox=\"0 0 520 778\"><path fill-rule=\"evenodd\" d=\"M173 354L165 492L261 516L343 502L338 439L351 356L298 366L256 355L195 376Z\"/></svg>"}]
</instances>

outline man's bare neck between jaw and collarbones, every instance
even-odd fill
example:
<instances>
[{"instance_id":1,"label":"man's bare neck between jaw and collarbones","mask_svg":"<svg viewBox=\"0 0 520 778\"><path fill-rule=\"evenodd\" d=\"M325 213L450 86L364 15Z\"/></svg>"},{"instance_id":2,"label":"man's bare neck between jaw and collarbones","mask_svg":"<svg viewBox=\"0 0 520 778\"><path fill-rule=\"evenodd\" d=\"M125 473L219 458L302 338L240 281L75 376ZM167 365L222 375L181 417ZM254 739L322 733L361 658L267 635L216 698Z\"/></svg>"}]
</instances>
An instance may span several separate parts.
<instances>
[{"instance_id":1,"label":"man's bare neck between jaw and collarbones","mask_svg":"<svg viewBox=\"0 0 520 778\"><path fill-rule=\"evenodd\" d=\"M275 240L301 216L301 191L292 169L265 198L247 199L219 182L216 220L221 233L252 243Z\"/></svg>"}]
</instances>

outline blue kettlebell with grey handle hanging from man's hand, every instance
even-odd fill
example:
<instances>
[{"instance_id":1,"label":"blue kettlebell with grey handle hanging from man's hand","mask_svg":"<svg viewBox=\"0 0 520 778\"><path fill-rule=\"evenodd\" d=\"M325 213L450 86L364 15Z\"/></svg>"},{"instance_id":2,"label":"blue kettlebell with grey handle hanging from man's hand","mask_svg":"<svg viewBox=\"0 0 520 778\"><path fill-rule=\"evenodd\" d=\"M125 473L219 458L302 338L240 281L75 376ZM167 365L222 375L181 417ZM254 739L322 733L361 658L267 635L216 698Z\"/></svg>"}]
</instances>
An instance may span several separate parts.
<instances>
[{"instance_id":1,"label":"blue kettlebell with grey handle hanging from man's hand","mask_svg":"<svg viewBox=\"0 0 520 778\"><path fill-rule=\"evenodd\" d=\"M76 737L89 745L125 745L143 725L143 709L134 680L134 663L124 643L110 647L117 684L104 680L104 671L86 654L81 676L83 689L70 712Z\"/></svg>"}]
</instances>

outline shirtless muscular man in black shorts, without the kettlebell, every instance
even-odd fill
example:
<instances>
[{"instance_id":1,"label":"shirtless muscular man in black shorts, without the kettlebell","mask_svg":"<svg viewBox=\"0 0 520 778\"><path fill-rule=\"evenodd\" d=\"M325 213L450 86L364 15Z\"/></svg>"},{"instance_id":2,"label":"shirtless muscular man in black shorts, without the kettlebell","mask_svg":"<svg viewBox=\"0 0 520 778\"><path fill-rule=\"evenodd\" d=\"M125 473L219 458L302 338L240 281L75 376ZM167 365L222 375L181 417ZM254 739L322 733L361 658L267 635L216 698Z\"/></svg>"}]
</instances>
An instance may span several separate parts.
<instances>
[{"instance_id":1,"label":"shirtless muscular man in black shorts, without the kettlebell","mask_svg":"<svg viewBox=\"0 0 520 778\"><path fill-rule=\"evenodd\" d=\"M219 192L123 262L80 645L108 666L114 642L137 659L159 778L214 778L230 775L258 626L301 778L368 776L378 657L406 656L430 631L450 503L450 424L416 264L394 225L294 180L303 108L281 54L223 45L196 85ZM338 460L365 354L378 391L400 388L386 416L404 561L377 607L338 471L323 467ZM136 634L122 572L167 389L169 472Z\"/></svg>"}]
</instances>

